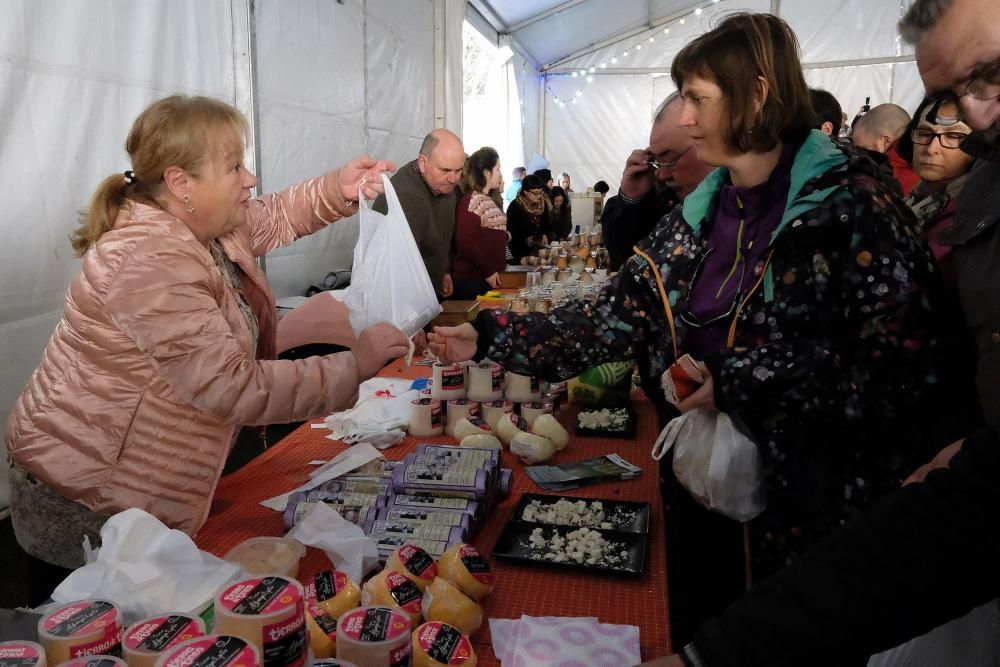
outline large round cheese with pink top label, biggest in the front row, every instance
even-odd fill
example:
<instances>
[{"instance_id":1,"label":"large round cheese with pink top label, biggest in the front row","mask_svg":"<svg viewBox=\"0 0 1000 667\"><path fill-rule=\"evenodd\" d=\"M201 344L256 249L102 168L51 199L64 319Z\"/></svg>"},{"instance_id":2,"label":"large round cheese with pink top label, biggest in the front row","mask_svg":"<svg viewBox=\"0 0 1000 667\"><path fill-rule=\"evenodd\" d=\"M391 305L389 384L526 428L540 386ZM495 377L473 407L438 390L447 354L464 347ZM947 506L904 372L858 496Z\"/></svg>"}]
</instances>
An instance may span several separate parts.
<instances>
[{"instance_id":1,"label":"large round cheese with pink top label, biggest in the front row","mask_svg":"<svg viewBox=\"0 0 1000 667\"><path fill-rule=\"evenodd\" d=\"M285 577L253 577L224 586L215 594L213 630L250 641L268 667L298 667L308 647L302 585Z\"/></svg>"}]
</instances>

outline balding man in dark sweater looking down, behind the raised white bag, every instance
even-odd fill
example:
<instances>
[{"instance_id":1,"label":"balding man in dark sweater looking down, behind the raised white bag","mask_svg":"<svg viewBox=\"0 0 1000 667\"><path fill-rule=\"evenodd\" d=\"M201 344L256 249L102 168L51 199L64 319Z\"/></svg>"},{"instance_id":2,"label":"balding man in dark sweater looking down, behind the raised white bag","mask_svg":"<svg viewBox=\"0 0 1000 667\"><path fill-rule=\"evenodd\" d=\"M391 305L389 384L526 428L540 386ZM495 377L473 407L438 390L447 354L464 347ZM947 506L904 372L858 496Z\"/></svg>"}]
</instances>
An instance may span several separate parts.
<instances>
[{"instance_id":1,"label":"balding man in dark sweater looking down, behind the raised white bag","mask_svg":"<svg viewBox=\"0 0 1000 667\"><path fill-rule=\"evenodd\" d=\"M437 293L447 298L454 288L448 274L451 237L455 232L455 186L462 178L465 147L454 132L431 130L416 160L407 162L389 179L410 223L413 238ZM385 213L385 195L375 201Z\"/></svg>"}]
</instances>

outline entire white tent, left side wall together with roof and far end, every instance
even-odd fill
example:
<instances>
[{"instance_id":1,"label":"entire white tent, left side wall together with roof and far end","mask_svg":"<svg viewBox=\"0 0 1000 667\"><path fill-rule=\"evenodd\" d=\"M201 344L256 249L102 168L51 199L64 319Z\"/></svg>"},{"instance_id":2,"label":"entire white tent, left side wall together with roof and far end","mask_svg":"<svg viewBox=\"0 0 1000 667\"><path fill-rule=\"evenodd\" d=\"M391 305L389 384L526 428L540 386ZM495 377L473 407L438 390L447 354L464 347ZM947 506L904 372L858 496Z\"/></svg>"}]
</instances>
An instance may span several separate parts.
<instances>
[{"instance_id":1,"label":"entire white tent, left side wall together with roof and far end","mask_svg":"<svg viewBox=\"0 0 1000 667\"><path fill-rule=\"evenodd\" d=\"M403 164L432 127L462 131L468 19L514 53L500 77L505 170L538 151L578 188L614 186L673 89L673 55L725 12L787 19L810 84L849 115L866 96L912 109L919 77L895 31L909 1L0 0L0 416L79 269L68 242L75 212L129 167L125 135L157 98L211 95L241 109L261 191L365 153ZM274 292L301 294L349 268L356 234L356 220L343 221L273 253ZM0 466L0 511L5 475Z\"/></svg>"}]
</instances>

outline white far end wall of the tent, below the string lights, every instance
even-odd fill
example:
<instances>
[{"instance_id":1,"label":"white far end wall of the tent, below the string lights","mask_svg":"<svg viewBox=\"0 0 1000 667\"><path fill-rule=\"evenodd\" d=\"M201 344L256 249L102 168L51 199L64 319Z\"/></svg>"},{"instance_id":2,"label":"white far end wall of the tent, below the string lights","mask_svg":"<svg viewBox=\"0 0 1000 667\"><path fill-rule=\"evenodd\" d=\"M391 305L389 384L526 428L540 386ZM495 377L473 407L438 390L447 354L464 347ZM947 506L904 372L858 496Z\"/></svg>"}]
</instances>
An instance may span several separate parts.
<instances>
[{"instance_id":1,"label":"white far end wall of the tent, below the string lights","mask_svg":"<svg viewBox=\"0 0 1000 667\"><path fill-rule=\"evenodd\" d=\"M771 0L698 3L704 7L702 14L687 14L681 24L677 10L684 8L676 4L663 7L664 13L658 15L674 16L674 20L545 70L541 152L554 171L568 171L574 184L589 186L600 179L614 192L625 157L647 145L652 113L674 90L669 76L674 55L727 14L772 9ZM799 38L807 83L833 93L853 118L865 97L871 97L873 106L893 102L909 111L922 97L912 48L896 33L896 22L909 4L910 0L786 0L778 3L778 14ZM689 3L688 11L694 6ZM664 28L669 32L664 33ZM653 42L648 41L650 36ZM636 45L641 48L637 50ZM623 55L626 49L628 56ZM612 62L613 58L617 62ZM853 62L859 59L866 62ZM595 68L593 73L589 72L591 67ZM573 71L585 71L592 81L571 76ZM574 104L577 91L582 91L582 96ZM565 104L560 106L558 100ZM600 146L588 139L594 135L602 137Z\"/></svg>"}]
</instances>

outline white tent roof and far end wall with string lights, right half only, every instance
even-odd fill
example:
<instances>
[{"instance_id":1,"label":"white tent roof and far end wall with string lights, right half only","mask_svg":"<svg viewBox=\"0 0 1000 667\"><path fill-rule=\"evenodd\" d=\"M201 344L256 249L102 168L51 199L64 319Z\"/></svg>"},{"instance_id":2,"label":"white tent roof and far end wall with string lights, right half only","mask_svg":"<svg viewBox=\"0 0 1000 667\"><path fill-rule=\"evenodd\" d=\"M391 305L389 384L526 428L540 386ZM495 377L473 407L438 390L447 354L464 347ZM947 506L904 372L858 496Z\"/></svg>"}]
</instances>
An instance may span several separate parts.
<instances>
[{"instance_id":1,"label":"white tent roof and far end wall with string lights, right half only","mask_svg":"<svg viewBox=\"0 0 1000 667\"><path fill-rule=\"evenodd\" d=\"M469 0L474 25L514 43L543 91L537 135L525 133L575 189L618 180L645 147L653 111L674 90L670 63L727 14L771 12L802 46L806 81L853 118L866 97L913 110L923 87L913 50L896 31L911 0ZM627 55L626 55L627 54ZM576 76L574 76L574 74ZM578 96L579 95L579 96ZM533 144L533 145L532 145ZM471 148L471 147L470 147ZM505 170L514 156L504 160Z\"/></svg>"}]
</instances>

